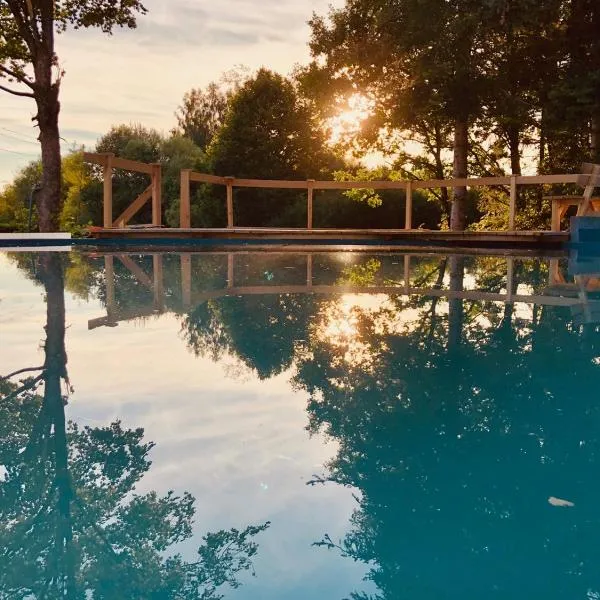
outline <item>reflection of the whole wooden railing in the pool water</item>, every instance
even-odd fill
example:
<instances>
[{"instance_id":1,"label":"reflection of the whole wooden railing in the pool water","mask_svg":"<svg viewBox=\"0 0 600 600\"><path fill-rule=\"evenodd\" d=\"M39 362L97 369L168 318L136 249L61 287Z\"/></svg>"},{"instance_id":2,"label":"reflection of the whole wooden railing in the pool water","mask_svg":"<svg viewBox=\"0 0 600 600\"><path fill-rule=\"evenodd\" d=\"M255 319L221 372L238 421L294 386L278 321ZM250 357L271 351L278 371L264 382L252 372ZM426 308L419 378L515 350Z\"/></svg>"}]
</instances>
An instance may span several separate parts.
<instances>
[{"instance_id":1,"label":"reflection of the whole wooden railing in the pool water","mask_svg":"<svg viewBox=\"0 0 600 600\"><path fill-rule=\"evenodd\" d=\"M524 303L541 306L567 306L570 307L573 314L583 314L586 316L584 322L590 322L597 309L596 301L589 301L588 291L595 291L600 288L598 278L580 279L575 283L568 283L564 279L558 259L550 260L548 288L544 294L519 294L515 291L514 273L515 258L507 257L506 267L506 291L503 293L487 292L481 290L450 290L437 287L414 287L411 283L411 264L414 258L429 255L404 255L402 277L399 283L394 285L372 285L356 286L349 284L320 285L314 283L313 254L304 254L306 261L306 280L302 284L292 285L236 285L235 260L236 255L233 252L219 253L227 256L227 284L226 287L217 290L193 293L192 289L192 255L180 255L181 268L181 309L188 310L193 306L215 300L226 296L257 296L269 294L387 294L404 296L426 296L458 300L472 300L479 302L503 302L507 304ZM297 256L297 254L294 254ZM114 258L117 257L123 265L132 273L135 279L144 287L153 291L153 304L139 310L128 309L123 311L119 309L115 299L115 280L114 280ZM88 322L89 329L95 329L101 326L115 326L119 321L127 321L140 317L147 317L153 314L160 314L165 310L164 284L163 284L163 256L160 253L152 255L152 276L147 275L129 255L124 253L115 253L105 255L105 276L106 276L106 308L107 316L99 319L92 319ZM587 318L589 317L589 318Z\"/></svg>"}]
</instances>

